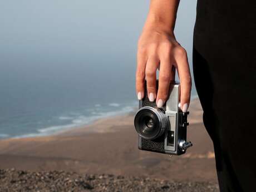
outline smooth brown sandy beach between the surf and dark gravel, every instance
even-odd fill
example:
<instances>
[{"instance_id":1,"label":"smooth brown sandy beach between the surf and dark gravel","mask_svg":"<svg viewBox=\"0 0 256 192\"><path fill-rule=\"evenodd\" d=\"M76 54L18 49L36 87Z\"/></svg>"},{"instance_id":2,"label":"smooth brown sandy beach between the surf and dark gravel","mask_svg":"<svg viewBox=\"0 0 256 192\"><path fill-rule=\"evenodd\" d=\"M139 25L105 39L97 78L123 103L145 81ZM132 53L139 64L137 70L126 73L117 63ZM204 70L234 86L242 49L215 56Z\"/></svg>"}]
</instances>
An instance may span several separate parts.
<instances>
[{"instance_id":1,"label":"smooth brown sandy beach between the surf and dark gravel","mask_svg":"<svg viewBox=\"0 0 256 192\"><path fill-rule=\"evenodd\" d=\"M0 140L0 169L40 174L43 172L38 171L121 175L126 180L148 178L215 186L213 144L204 129L198 99L191 101L189 111L188 140L193 142L193 147L181 156L137 149L135 112L130 112L56 135Z\"/></svg>"}]
</instances>

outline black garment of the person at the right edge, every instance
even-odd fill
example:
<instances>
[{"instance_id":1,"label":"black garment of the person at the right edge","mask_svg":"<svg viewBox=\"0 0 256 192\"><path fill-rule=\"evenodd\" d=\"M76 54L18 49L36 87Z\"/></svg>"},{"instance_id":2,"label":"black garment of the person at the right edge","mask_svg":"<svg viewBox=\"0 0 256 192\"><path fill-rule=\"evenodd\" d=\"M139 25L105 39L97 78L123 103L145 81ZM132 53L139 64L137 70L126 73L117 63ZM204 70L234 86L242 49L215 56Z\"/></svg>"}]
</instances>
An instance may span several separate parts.
<instances>
[{"instance_id":1,"label":"black garment of the person at the right edge","mask_svg":"<svg viewBox=\"0 0 256 192\"><path fill-rule=\"evenodd\" d=\"M193 68L221 192L256 191L256 3L198 0Z\"/></svg>"}]
</instances>

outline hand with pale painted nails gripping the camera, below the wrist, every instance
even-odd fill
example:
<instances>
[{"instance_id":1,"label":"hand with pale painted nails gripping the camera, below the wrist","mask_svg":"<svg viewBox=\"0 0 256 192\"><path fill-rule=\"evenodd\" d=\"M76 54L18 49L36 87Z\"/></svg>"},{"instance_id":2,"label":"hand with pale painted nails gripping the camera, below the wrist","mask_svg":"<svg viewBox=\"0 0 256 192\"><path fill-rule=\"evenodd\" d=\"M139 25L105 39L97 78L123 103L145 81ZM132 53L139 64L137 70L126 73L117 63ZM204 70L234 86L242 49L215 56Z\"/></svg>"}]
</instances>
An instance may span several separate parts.
<instances>
[{"instance_id":1,"label":"hand with pale painted nails gripping the camera, below the wrist","mask_svg":"<svg viewBox=\"0 0 256 192\"><path fill-rule=\"evenodd\" d=\"M156 92L156 70L160 67L159 88ZM159 27L144 28L137 50L136 91L138 99L144 97L144 82L151 102L162 107L169 96L170 81L175 80L175 68L180 80L180 108L188 110L191 76L186 51L176 41L172 32Z\"/></svg>"}]
</instances>

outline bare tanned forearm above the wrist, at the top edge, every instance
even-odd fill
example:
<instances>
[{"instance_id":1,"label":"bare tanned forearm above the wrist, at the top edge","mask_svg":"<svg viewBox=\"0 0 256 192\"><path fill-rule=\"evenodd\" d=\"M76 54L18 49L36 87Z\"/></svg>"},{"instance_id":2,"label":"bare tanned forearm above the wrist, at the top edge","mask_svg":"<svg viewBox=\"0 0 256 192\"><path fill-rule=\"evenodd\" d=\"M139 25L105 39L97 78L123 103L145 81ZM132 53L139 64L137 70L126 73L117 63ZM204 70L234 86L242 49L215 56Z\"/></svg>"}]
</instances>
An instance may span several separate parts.
<instances>
[{"instance_id":1,"label":"bare tanned forearm above the wrist, at the top edge","mask_svg":"<svg viewBox=\"0 0 256 192\"><path fill-rule=\"evenodd\" d=\"M179 0L151 0L145 28L159 27L162 31L173 33Z\"/></svg>"}]
</instances>

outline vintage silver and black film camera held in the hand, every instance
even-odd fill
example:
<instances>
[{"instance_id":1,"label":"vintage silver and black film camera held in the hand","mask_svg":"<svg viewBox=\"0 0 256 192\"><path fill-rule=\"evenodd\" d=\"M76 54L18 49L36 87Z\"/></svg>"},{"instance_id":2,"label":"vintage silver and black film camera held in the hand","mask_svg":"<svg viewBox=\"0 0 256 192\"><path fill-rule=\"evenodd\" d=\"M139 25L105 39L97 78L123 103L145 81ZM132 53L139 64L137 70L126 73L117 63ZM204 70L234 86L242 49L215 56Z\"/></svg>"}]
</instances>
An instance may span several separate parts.
<instances>
[{"instance_id":1,"label":"vintage silver and black film camera held in the hand","mask_svg":"<svg viewBox=\"0 0 256 192\"><path fill-rule=\"evenodd\" d=\"M158 81L156 84L158 87ZM144 95L134 119L139 149L170 155L184 154L192 143L186 141L189 112L183 112L179 107L180 84L170 83L168 100L161 108L149 101L146 82Z\"/></svg>"}]
</instances>

